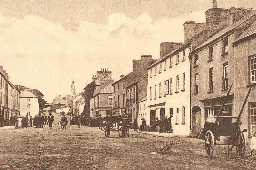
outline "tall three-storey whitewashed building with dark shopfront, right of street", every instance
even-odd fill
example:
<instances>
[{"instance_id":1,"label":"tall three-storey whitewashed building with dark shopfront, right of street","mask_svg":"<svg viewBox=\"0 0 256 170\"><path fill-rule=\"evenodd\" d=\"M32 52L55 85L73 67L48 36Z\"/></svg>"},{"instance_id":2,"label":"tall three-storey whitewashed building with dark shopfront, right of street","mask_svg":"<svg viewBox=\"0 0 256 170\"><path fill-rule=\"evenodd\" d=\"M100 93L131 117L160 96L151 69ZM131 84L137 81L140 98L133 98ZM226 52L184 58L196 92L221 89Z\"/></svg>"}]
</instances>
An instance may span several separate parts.
<instances>
[{"instance_id":1,"label":"tall three-storey whitewashed building with dark shopfront, right of street","mask_svg":"<svg viewBox=\"0 0 256 170\"><path fill-rule=\"evenodd\" d=\"M189 53L189 45L180 45L166 55L160 54L160 59L148 68L147 125L155 125L157 117L171 115L174 135L190 135Z\"/></svg>"}]
</instances>

